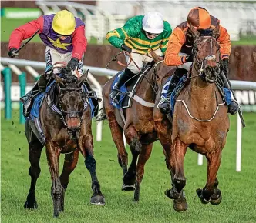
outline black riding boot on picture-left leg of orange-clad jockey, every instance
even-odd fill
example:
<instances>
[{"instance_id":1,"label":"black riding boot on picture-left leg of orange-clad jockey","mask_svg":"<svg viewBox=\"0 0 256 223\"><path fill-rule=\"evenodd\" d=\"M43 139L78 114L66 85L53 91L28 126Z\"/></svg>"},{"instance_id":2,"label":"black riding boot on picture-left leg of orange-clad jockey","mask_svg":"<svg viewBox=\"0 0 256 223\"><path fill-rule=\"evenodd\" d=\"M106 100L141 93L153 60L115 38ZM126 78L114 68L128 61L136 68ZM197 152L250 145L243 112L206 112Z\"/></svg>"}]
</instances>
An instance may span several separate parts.
<instances>
[{"instance_id":1,"label":"black riding boot on picture-left leg of orange-clad jockey","mask_svg":"<svg viewBox=\"0 0 256 223\"><path fill-rule=\"evenodd\" d=\"M170 85L167 89L167 97L161 98L160 103L158 105L160 111L163 114L170 113L170 95L173 92L174 88L176 87L177 83L180 81L180 78L182 78L182 76L186 73L187 73L186 69L177 68L173 73L172 77L170 78Z\"/></svg>"}]
</instances>

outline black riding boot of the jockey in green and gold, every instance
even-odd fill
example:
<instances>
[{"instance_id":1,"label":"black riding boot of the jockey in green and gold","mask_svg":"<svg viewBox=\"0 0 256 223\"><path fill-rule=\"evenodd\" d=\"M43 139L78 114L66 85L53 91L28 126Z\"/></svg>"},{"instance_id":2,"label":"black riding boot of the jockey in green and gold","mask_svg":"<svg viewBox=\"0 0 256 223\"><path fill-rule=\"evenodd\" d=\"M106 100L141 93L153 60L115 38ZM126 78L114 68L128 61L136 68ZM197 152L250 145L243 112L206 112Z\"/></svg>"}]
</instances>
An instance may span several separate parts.
<instances>
[{"instance_id":1,"label":"black riding boot of the jockey in green and gold","mask_svg":"<svg viewBox=\"0 0 256 223\"><path fill-rule=\"evenodd\" d=\"M119 104L119 95L120 95L120 88L133 76L136 75L130 71L130 69L126 68L122 74L116 85L113 87L113 91L110 93L109 97L116 103Z\"/></svg>"}]
</instances>

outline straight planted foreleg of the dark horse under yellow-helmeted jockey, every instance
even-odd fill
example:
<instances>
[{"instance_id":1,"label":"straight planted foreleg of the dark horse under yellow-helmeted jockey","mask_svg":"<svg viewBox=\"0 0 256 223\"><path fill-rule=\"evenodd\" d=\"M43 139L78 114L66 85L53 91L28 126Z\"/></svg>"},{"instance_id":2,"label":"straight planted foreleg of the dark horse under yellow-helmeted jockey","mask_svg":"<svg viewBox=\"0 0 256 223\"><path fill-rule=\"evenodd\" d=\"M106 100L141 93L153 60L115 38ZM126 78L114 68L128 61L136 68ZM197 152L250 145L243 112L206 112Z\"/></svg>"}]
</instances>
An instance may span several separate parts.
<instances>
[{"instance_id":1,"label":"straight planted foreleg of the dark horse under yellow-helmeted jockey","mask_svg":"<svg viewBox=\"0 0 256 223\"><path fill-rule=\"evenodd\" d=\"M59 211L61 211L62 195L64 193L64 188L59 180L59 148L54 145L53 142L49 142L46 145L46 155L49 165L49 171L52 178L52 188L51 195L53 201L53 216L59 217Z\"/></svg>"}]
</instances>

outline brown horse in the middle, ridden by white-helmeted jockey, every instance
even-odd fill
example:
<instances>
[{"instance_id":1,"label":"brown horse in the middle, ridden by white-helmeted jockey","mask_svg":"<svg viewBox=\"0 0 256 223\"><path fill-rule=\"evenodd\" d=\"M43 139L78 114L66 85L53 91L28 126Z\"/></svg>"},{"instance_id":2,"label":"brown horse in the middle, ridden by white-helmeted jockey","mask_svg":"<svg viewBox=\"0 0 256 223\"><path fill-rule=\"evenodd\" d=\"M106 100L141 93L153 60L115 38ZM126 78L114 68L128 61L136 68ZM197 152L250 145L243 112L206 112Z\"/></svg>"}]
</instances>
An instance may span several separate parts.
<instances>
[{"instance_id":1,"label":"brown horse in the middle, ridden by white-helmeted jockey","mask_svg":"<svg viewBox=\"0 0 256 223\"><path fill-rule=\"evenodd\" d=\"M118 151L118 161L123 169L122 190L135 190L134 201L139 201L144 166L150 158L153 142L157 140L153 121L153 106L158 84L162 78L160 74L167 75L170 70L170 67L164 65L163 58L158 57L153 51L151 55L155 64L149 72L143 73L143 77L136 86L136 95L132 96L133 101L130 108L120 108L119 110L110 102L109 94L116 76L106 82L103 87L103 108L105 111L103 118L107 118L109 121L112 138ZM128 90L131 90L131 87L128 87ZM123 132L133 155L128 169L128 155L123 141Z\"/></svg>"}]
</instances>

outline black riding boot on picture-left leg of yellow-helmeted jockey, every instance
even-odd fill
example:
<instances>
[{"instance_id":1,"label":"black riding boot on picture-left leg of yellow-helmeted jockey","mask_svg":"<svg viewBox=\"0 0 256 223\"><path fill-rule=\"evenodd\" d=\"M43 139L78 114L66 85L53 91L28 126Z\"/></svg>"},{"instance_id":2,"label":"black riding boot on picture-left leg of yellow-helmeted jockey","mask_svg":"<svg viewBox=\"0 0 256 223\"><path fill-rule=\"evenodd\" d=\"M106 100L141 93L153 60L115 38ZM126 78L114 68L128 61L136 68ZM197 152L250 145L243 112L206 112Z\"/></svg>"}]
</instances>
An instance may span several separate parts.
<instances>
[{"instance_id":1,"label":"black riding boot on picture-left leg of yellow-helmeted jockey","mask_svg":"<svg viewBox=\"0 0 256 223\"><path fill-rule=\"evenodd\" d=\"M40 92L45 92L47 80L45 79L45 75L41 75L35 85L33 86L32 90L30 90L26 95L20 98L20 102L23 104L23 115L25 117L29 117L34 98Z\"/></svg>"}]
</instances>

